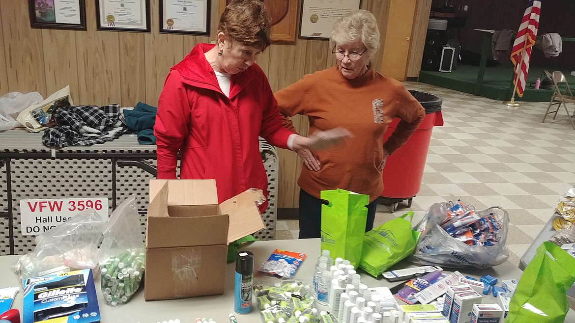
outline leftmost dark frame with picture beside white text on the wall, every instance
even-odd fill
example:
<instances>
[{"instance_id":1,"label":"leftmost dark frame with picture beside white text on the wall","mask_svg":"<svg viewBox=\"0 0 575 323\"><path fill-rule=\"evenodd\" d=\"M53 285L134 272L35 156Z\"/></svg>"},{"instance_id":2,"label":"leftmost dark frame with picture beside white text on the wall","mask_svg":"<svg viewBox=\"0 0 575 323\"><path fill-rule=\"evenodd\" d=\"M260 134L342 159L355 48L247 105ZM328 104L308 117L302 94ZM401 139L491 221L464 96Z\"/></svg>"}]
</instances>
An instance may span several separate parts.
<instances>
[{"instance_id":1,"label":"leftmost dark frame with picture beside white text on the wall","mask_svg":"<svg viewBox=\"0 0 575 323\"><path fill-rule=\"evenodd\" d=\"M28 0L32 28L86 30L84 0Z\"/></svg>"}]
</instances>

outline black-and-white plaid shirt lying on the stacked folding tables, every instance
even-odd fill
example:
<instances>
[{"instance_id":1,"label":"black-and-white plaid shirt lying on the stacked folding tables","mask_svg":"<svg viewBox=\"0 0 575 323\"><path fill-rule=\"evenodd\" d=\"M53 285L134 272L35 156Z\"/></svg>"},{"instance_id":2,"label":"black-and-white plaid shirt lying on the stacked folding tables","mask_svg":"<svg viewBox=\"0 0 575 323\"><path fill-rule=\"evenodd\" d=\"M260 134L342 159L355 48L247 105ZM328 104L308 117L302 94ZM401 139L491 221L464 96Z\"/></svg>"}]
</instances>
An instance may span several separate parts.
<instances>
[{"instance_id":1,"label":"black-and-white plaid shirt lying on the stacked folding tables","mask_svg":"<svg viewBox=\"0 0 575 323\"><path fill-rule=\"evenodd\" d=\"M128 132L120 121L120 105L60 107L57 125L45 130L42 143L48 147L91 146L117 139Z\"/></svg>"}]
</instances>

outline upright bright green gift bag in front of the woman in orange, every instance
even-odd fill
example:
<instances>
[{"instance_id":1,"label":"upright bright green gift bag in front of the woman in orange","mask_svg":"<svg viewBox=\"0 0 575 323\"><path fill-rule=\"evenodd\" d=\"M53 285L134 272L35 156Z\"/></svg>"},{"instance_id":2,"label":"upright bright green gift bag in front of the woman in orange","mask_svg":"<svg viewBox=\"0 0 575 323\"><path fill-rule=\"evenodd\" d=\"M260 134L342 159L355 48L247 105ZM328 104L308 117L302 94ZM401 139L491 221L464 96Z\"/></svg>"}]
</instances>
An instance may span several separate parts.
<instances>
[{"instance_id":1,"label":"upright bright green gift bag in front of the woman in orange","mask_svg":"<svg viewBox=\"0 0 575 323\"><path fill-rule=\"evenodd\" d=\"M369 195L337 189L321 191L321 249L357 267L361 259Z\"/></svg>"}]
</instances>

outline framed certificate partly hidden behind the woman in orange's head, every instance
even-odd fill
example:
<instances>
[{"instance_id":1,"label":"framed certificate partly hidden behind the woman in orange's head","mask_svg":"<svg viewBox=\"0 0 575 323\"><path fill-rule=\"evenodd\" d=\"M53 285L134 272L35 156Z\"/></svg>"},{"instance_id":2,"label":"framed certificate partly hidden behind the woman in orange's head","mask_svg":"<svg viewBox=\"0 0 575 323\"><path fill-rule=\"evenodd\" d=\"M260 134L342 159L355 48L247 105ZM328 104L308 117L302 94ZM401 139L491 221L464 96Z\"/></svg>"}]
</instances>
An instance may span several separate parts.
<instances>
[{"instance_id":1,"label":"framed certificate partly hidden behind the woman in orange's head","mask_svg":"<svg viewBox=\"0 0 575 323\"><path fill-rule=\"evenodd\" d=\"M361 0L303 0L299 38L329 40L333 23L360 5Z\"/></svg>"}]
</instances>

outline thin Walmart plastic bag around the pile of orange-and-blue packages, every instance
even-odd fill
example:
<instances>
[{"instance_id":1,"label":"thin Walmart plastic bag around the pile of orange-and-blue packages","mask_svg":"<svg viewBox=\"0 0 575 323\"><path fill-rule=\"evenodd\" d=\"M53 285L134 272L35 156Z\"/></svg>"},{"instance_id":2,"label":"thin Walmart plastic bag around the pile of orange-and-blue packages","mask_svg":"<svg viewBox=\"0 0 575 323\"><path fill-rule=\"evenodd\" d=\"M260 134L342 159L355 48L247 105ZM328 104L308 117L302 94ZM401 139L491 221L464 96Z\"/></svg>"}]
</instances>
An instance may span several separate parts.
<instances>
[{"instance_id":1,"label":"thin Walmart plastic bag around the pile of orange-and-blue packages","mask_svg":"<svg viewBox=\"0 0 575 323\"><path fill-rule=\"evenodd\" d=\"M509 258L509 250L505 245L509 216L505 209L493 206L476 211L482 217L493 213L501 224L499 244L484 247L458 241L439 226L446 219L449 208L448 203L435 203L417 224L415 230L421 234L411 256L412 262L453 268L487 268L502 264Z\"/></svg>"}]
</instances>

